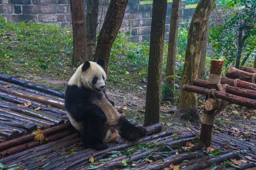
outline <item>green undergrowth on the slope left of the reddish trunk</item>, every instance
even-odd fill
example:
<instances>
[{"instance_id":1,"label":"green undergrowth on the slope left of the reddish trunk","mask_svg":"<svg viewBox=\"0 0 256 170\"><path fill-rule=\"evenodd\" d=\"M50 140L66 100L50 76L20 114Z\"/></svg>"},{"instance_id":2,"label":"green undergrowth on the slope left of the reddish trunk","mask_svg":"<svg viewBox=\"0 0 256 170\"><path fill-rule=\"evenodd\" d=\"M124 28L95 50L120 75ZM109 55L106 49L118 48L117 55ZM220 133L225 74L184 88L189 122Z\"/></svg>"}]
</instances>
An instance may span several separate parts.
<instances>
[{"instance_id":1,"label":"green undergrowth on the slope left of the reddish trunk","mask_svg":"<svg viewBox=\"0 0 256 170\"><path fill-rule=\"evenodd\" d=\"M71 54L72 32L67 28L5 22L0 17L0 71L53 74L64 70ZM51 68L51 69L48 69Z\"/></svg>"}]
</instances>

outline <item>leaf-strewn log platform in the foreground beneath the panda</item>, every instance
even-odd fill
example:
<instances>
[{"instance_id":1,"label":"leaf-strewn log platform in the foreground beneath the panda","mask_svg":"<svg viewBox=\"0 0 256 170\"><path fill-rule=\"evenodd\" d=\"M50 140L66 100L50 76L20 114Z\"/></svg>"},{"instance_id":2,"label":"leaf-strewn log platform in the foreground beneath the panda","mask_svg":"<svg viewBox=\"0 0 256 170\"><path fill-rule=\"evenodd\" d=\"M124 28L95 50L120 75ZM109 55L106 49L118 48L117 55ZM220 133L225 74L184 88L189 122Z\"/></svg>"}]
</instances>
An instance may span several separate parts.
<instances>
[{"instance_id":1,"label":"leaf-strewn log platform in the foreground beneath the panda","mask_svg":"<svg viewBox=\"0 0 256 170\"><path fill-rule=\"evenodd\" d=\"M121 139L119 144L110 143L108 149L95 151L94 149L85 149L78 134L73 133L69 126L70 124L52 127L50 129L55 129L55 131L51 130L51 132L47 131L49 129L43 130L46 138L51 142L48 141L42 145L39 142L31 141L33 138L31 136L26 137L26 142L23 138L19 140L21 143L18 144L14 142L18 139L13 139L11 145L0 144L0 162L5 167L27 170L162 170L164 168L172 170L169 168L171 164L183 167L185 170L202 170L211 167L213 163L218 164L230 161L230 159L246 160L244 155L235 152L239 150L238 147L224 144L223 141L219 141L219 136L216 136L217 142L212 143L211 146L218 149L219 153L215 157L211 157L209 152L202 151L203 144L195 144L187 149L187 143L192 142L196 136L194 133L178 136L172 134L171 130L160 132L160 124L145 127L147 132L153 133L153 135L137 141ZM154 133L156 134L154 135ZM227 135L220 135L223 138L229 138ZM54 136L58 137L53 139ZM234 140L234 142L240 144L239 141ZM249 146L249 143L245 142L244 146L246 145ZM25 146L31 147L24 150ZM224 147L229 147L234 151L229 152ZM255 151L256 147L251 147L251 149ZM129 151L132 153L128 154ZM116 153L115 156L111 155L113 153ZM93 163L91 163L91 157L94 160ZM240 170L254 166L255 163L249 160L245 164L239 165Z\"/></svg>"}]
</instances>

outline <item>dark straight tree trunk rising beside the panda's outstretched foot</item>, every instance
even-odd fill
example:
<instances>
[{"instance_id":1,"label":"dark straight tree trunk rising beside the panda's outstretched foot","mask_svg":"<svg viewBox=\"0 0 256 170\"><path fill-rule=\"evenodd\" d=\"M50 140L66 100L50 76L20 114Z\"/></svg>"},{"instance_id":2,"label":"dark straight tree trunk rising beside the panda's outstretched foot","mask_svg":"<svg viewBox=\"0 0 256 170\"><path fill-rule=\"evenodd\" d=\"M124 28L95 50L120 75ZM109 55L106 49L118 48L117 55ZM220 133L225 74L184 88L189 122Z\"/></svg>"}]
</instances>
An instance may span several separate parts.
<instances>
[{"instance_id":1,"label":"dark straight tree trunk rising beside the panda's outstretched foot","mask_svg":"<svg viewBox=\"0 0 256 170\"><path fill-rule=\"evenodd\" d=\"M146 87L145 126L159 122L167 0L153 0Z\"/></svg>"}]
</instances>

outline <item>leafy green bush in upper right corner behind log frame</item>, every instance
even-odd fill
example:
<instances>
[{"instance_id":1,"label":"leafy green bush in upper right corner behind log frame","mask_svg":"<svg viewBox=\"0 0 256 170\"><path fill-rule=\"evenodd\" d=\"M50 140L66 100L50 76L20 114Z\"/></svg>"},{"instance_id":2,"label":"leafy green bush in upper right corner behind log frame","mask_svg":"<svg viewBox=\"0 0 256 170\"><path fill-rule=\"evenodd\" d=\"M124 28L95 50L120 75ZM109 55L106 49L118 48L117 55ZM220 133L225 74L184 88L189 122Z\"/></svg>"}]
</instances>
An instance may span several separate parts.
<instances>
[{"instance_id":1,"label":"leafy green bush in upper right corner behind log frame","mask_svg":"<svg viewBox=\"0 0 256 170\"><path fill-rule=\"evenodd\" d=\"M233 16L225 18L225 24L217 25L209 29L208 41L212 44L215 52L215 59L225 58L226 64L234 64L238 53L242 53L242 58L247 53L254 52L256 47L256 8L255 0L230 0L227 8L236 7L238 12ZM242 39L245 39L242 50L238 49L238 34L242 32ZM242 42L242 39L240 42Z\"/></svg>"}]
</instances>

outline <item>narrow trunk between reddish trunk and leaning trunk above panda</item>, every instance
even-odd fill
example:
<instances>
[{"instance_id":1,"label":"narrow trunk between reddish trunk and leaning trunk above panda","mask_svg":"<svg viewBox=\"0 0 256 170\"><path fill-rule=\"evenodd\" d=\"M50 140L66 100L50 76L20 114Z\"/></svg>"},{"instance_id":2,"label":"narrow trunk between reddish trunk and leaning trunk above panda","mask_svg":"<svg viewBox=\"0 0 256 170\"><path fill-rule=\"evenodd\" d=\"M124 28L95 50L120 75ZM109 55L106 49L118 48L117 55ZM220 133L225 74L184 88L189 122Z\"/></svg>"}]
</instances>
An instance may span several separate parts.
<instances>
[{"instance_id":1,"label":"narrow trunk between reddish trunk and leaning trunk above panda","mask_svg":"<svg viewBox=\"0 0 256 170\"><path fill-rule=\"evenodd\" d=\"M87 37L87 57L93 60L96 47L96 34L98 26L99 0L87 0L86 11L86 37Z\"/></svg>"}]
</instances>

